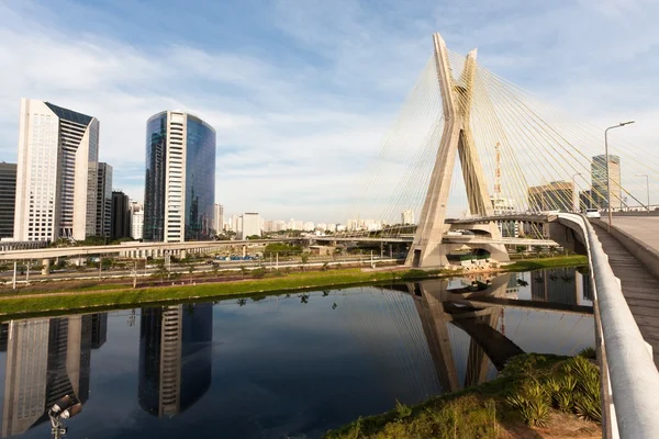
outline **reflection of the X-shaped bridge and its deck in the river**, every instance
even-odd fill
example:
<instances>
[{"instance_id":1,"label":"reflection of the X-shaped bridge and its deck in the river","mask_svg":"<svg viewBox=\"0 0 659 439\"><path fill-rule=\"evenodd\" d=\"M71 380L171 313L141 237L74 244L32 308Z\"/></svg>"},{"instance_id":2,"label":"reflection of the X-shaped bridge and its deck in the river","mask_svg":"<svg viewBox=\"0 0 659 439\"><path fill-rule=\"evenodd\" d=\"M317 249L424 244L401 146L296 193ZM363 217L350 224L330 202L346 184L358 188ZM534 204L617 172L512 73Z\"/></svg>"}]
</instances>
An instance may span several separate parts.
<instances>
[{"instance_id":1,"label":"reflection of the X-shaped bridge and its deck in the river","mask_svg":"<svg viewBox=\"0 0 659 439\"><path fill-rule=\"evenodd\" d=\"M395 375L393 370L405 370L406 385L415 389L416 399L492 380L520 353L576 354L594 344L594 333L588 330L580 340L570 337L578 326L593 325L588 277L574 269L378 289L371 294L380 296L380 312L389 314L403 345L392 347L403 352L398 363L382 364L381 360L390 358L382 350L387 347L375 346L380 337L369 336L387 330L381 317L360 315L359 306L349 306L349 295L346 323L377 361L373 370L390 375ZM580 328L579 334L584 331Z\"/></svg>"}]
</instances>

